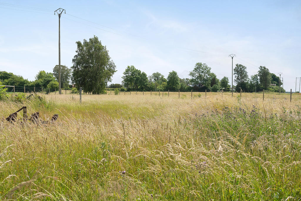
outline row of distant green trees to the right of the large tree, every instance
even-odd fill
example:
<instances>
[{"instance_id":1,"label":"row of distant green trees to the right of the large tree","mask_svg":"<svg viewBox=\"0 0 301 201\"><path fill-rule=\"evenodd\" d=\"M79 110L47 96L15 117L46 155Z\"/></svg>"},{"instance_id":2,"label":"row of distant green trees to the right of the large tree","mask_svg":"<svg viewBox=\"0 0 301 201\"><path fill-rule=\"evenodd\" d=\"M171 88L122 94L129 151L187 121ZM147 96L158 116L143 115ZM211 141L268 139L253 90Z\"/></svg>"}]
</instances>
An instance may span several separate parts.
<instances>
[{"instance_id":1,"label":"row of distant green trees to the right of the large tree","mask_svg":"<svg viewBox=\"0 0 301 201\"><path fill-rule=\"evenodd\" d=\"M250 78L247 73L247 67L242 64L236 64L234 68L234 82L236 85L233 88L236 91L253 92L255 89L267 89L270 91L279 91L279 84L282 85L280 78L274 73L270 73L265 66L260 66L258 73ZM164 78L159 72L154 72L148 76L145 72L136 69L133 65L128 66L123 72L122 85L111 84L110 88L119 88L122 86L127 90L135 91L166 91L166 90L181 90L190 91L231 91L228 77L218 79L216 74L211 71L211 68L206 63L198 62L194 69L188 74L190 78L179 78L175 71L169 72L167 78ZM272 84L272 85L271 85ZM281 88L283 92L284 89Z\"/></svg>"}]
</instances>

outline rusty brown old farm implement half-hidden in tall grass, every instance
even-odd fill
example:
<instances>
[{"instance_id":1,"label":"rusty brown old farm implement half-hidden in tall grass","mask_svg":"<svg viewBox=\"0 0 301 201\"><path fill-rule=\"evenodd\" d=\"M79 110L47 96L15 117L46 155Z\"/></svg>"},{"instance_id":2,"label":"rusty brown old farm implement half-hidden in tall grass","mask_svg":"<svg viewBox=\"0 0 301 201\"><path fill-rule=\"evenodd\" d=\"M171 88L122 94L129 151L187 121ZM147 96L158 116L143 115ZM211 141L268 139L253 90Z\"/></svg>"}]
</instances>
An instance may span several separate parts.
<instances>
[{"instance_id":1,"label":"rusty brown old farm implement half-hidden in tall grass","mask_svg":"<svg viewBox=\"0 0 301 201\"><path fill-rule=\"evenodd\" d=\"M26 120L29 120L32 123L50 123L50 122L56 121L57 118L58 118L58 114L54 114L50 121L44 121L44 120L40 119L39 112L36 112L36 113L33 113L32 115L30 115L30 118L28 119L27 108L26 108L26 106L23 106L19 110L17 110L16 112L9 115L6 118L6 120L8 120L8 122L10 122L10 123L16 122L17 121L17 113L22 111L22 110L23 110L23 122L25 122Z\"/></svg>"}]
</instances>

